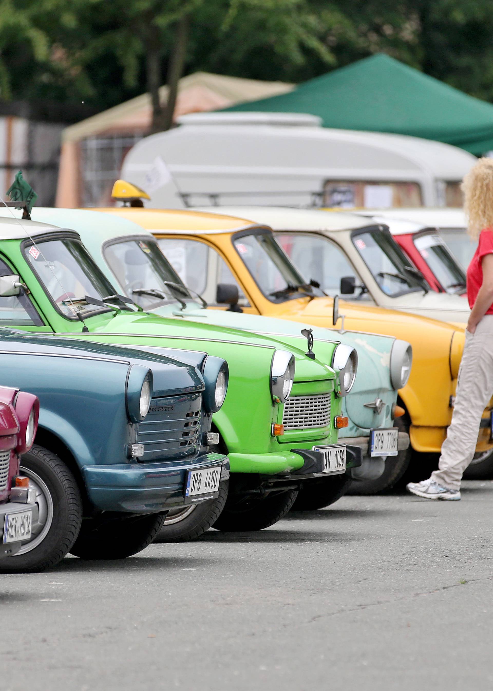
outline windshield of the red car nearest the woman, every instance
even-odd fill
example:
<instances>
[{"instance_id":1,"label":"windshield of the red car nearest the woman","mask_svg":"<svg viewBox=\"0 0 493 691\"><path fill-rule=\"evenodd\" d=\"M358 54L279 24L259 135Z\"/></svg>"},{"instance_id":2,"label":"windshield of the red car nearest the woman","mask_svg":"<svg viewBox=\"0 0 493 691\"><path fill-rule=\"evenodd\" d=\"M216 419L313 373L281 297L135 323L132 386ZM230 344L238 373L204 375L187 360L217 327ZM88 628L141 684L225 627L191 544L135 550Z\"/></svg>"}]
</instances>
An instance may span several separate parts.
<instances>
[{"instance_id":1,"label":"windshield of the red car nearest the woman","mask_svg":"<svg viewBox=\"0 0 493 691\"><path fill-rule=\"evenodd\" d=\"M415 235L413 239L414 246L443 289L447 293L465 292L465 273L444 240L436 232Z\"/></svg>"}]
</instances>

